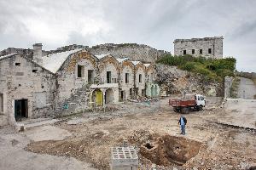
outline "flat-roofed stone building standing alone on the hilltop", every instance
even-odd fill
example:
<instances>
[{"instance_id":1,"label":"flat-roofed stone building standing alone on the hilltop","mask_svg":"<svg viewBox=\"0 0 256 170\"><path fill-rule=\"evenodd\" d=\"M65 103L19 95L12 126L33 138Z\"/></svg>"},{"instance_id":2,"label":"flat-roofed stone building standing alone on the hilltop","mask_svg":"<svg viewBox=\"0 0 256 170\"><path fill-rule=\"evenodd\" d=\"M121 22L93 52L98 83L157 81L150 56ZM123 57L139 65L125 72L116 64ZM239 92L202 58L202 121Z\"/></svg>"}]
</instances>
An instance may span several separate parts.
<instances>
[{"instance_id":1,"label":"flat-roofed stone building standing alone on the hilltop","mask_svg":"<svg viewBox=\"0 0 256 170\"><path fill-rule=\"evenodd\" d=\"M174 40L174 55L191 54L212 59L223 58L223 37Z\"/></svg>"}]
</instances>

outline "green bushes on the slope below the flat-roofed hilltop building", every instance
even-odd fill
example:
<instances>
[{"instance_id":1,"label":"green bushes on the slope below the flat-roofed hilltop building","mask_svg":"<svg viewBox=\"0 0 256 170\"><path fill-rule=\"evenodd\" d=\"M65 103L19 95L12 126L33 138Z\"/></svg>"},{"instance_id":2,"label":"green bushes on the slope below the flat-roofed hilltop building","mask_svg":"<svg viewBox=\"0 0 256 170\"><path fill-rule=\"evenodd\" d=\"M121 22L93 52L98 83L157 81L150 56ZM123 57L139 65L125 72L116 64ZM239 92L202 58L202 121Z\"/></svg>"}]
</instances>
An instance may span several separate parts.
<instances>
[{"instance_id":1,"label":"green bushes on the slope below the flat-roofed hilltop building","mask_svg":"<svg viewBox=\"0 0 256 170\"><path fill-rule=\"evenodd\" d=\"M185 71L199 73L206 81L224 81L224 77L234 77L236 69L235 58L207 59L205 57L193 57L186 54L183 56L172 56L166 54L157 60L157 63L164 65L175 65Z\"/></svg>"}]
</instances>

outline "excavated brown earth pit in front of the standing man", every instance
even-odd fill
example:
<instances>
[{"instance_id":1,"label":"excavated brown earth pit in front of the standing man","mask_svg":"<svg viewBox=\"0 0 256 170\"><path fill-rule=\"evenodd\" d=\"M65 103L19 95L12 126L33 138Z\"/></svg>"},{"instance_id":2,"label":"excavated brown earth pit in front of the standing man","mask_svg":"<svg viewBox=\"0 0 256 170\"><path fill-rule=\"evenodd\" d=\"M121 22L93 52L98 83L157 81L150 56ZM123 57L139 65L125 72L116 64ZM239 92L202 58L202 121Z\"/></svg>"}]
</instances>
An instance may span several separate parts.
<instances>
[{"instance_id":1,"label":"excavated brown earth pit in front of the standing man","mask_svg":"<svg viewBox=\"0 0 256 170\"><path fill-rule=\"evenodd\" d=\"M163 135L141 145L140 154L160 166L183 165L196 156L201 143L182 137Z\"/></svg>"}]
</instances>

